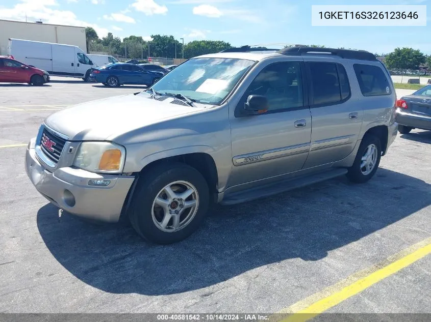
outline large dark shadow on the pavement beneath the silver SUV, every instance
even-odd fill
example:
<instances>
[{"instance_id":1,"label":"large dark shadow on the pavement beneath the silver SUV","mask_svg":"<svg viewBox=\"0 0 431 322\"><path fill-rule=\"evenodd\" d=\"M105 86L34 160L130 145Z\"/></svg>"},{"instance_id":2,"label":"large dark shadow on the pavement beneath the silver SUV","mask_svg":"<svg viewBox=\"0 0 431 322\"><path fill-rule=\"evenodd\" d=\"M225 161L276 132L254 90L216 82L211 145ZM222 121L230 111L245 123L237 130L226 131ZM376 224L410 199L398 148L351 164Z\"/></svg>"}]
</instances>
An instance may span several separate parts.
<instances>
[{"instance_id":1,"label":"large dark shadow on the pavement beneath the silver SUV","mask_svg":"<svg viewBox=\"0 0 431 322\"><path fill-rule=\"evenodd\" d=\"M52 204L38 211L37 225L49 251L83 282L118 294L167 295L289 258L322 259L427 207L430 188L380 168L362 185L342 177L254 202L216 206L194 235L167 246L144 242L127 220L95 225L69 214L59 220Z\"/></svg>"}]
</instances>

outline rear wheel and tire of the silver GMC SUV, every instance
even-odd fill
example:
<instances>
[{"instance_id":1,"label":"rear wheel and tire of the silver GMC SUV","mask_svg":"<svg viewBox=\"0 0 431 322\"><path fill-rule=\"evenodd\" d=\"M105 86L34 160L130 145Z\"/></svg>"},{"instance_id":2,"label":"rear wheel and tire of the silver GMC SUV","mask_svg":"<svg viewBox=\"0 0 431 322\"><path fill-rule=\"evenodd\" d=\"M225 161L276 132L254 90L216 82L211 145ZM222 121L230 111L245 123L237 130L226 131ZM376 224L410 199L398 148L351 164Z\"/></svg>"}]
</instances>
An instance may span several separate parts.
<instances>
[{"instance_id":1,"label":"rear wheel and tire of the silver GMC SUV","mask_svg":"<svg viewBox=\"0 0 431 322\"><path fill-rule=\"evenodd\" d=\"M367 134L359 145L353 165L348 169L347 178L356 183L370 180L377 171L382 157L382 145L378 137Z\"/></svg>"}]
</instances>

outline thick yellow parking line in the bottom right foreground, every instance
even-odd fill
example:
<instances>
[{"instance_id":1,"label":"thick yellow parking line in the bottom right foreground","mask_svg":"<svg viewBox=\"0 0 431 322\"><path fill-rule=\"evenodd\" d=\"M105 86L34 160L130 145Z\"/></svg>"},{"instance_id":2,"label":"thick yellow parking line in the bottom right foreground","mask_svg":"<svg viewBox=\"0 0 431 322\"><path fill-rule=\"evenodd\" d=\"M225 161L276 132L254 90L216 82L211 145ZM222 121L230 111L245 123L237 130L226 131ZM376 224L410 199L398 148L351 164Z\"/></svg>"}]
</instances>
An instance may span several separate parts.
<instances>
[{"instance_id":1,"label":"thick yellow parking line in the bottom right foreground","mask_svg":"<svg viewBox=\"0 0 431 322\"><path fill-rule=\"evenodd\" d=\"M305 322L360 293L371 285L408 267L431 253L431 238L427 238L387 258L366 270L354 273L346 279L301 300L278 313L288 313L283 322ZM293 314L292 314L293 313Z\"/></svg>"}]
</instances>

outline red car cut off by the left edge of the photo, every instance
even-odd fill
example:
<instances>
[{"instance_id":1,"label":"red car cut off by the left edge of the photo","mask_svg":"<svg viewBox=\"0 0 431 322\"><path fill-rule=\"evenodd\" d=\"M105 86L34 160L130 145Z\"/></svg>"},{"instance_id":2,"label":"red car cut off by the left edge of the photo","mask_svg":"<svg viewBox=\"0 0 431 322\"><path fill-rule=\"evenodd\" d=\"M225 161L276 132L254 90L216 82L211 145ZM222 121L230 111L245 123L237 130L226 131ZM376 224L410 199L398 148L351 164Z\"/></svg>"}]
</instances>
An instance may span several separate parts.
<instances>
[{"instance_id":1,"label":"red car cut off by the left edge of the photo","mask_svg":"<svg viewBox=\"0 0 431 322\"><path fill-rule=\"evenodd\" d=\"M49 74L44 70L22 64L12 57L0 56L0 82L41 86L48 81Z\"/></svg>"}]
</instances>

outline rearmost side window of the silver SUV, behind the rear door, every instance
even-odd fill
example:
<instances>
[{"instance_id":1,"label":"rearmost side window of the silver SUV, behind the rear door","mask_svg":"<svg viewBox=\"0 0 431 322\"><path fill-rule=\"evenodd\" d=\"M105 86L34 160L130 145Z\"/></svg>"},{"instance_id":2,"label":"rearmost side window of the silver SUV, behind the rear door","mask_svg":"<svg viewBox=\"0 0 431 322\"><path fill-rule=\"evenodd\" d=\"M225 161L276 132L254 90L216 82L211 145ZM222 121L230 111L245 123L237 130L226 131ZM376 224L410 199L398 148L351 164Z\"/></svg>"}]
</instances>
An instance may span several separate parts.
<instances>
[{"instance_id":1,"label":"rearmost side window of the silver SUV, behind the rear door","mask_svg":"<svg viewBox=\"0 0 431 322\"><path fill-rule=\"evenodd\" d=\"M390 95L391 86L384 71L373 65L353 64L354 72L358 78L362 95L377 96Z\"/></svg>"}]
</instances>

